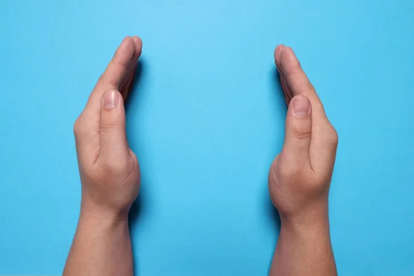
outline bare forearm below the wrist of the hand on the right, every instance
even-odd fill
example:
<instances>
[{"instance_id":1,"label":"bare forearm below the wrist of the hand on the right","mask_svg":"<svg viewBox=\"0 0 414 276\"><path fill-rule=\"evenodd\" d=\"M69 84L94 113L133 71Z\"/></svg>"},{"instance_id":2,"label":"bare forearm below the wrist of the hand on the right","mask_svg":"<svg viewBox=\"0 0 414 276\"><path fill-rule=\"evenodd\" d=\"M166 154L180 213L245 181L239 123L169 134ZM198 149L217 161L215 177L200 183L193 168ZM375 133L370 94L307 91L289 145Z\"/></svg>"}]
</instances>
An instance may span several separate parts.
<instances>
[{"instance_id":1,"label":"bare forearm below the wrist of the hand on the right","mask_svg":"<svg viewBox=\"0 0 414 276\"><path fill-rule=\"evenodd\" d=\"M328 210L304 219L281 219L270 276L337 275L329 233Z\"/></svg>"}]
</instances>

